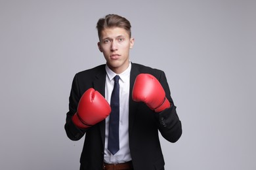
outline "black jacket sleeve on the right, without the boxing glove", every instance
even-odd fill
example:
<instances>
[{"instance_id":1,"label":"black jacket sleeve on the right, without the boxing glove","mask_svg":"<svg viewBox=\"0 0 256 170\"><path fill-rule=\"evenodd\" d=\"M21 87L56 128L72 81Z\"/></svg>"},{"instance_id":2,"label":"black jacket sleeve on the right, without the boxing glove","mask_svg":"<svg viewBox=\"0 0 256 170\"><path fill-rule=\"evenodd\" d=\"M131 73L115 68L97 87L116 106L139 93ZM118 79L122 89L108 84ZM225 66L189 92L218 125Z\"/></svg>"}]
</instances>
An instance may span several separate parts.
<instances>
[{"instance_id":1,"label":"black jacket sleeve on the right, without the boxing glove","mask_svg":"<svg viewBox=\"0 0 256 170\"><path fill-rule=\"evenodd\" d=\"M161 112L156 112L156 117L158 118L158 126L161 135L169 142L175 143L179 140L182 134L181 121L176 112L176 107L173 103L173 99L171 98L171 92L169 90L169 85L167 83L167 79L165 73L162 71L160 77L158 78L163 89L165 90L165 95L169 102L171 103L171 107L169 109L165 109Z\"/></svg>"}]
</instances>

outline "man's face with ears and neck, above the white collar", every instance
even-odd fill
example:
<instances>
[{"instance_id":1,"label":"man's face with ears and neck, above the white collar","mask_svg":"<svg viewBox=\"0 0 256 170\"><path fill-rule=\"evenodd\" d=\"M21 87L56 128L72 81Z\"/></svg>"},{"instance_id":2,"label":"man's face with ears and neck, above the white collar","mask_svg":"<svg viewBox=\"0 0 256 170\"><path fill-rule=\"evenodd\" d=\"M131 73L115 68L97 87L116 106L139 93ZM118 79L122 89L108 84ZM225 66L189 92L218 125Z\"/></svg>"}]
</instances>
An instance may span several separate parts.
<instances>
[{"instance_id":1,"label":"man's face with ears and neck, above the white collar","mask_svg":"<svg viewBox=\"0 0 256 170\"><path fill-rule=\"evenodd\" d=\"M98 49L103 52L106 63L112 71L119 74L129 67L129 50L134 39L121 27L103 29Z\"/></svg>"}]
</instances>

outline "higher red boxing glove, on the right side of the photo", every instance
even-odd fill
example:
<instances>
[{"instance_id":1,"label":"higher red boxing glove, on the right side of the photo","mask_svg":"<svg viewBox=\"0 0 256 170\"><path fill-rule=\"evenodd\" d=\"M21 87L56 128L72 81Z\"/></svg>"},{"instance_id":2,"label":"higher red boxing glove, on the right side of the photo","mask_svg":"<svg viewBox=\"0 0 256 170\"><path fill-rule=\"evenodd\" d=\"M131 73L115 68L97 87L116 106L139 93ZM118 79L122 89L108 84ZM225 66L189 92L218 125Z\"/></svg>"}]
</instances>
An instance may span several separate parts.
<instances>
[{"instance_id":1,"label":"higher red boxing glove, on the right side of the photo","mask_svg":"<svg viewBox=\"0 0 256 170\"><path fill-rule=\"evenodd\" d=\"M143 101L155 112L161 112L170 107L160 82L150 74L140 74L135 79L133 100Z\"/></svg>"}]
</instances>

